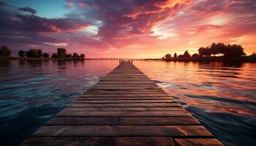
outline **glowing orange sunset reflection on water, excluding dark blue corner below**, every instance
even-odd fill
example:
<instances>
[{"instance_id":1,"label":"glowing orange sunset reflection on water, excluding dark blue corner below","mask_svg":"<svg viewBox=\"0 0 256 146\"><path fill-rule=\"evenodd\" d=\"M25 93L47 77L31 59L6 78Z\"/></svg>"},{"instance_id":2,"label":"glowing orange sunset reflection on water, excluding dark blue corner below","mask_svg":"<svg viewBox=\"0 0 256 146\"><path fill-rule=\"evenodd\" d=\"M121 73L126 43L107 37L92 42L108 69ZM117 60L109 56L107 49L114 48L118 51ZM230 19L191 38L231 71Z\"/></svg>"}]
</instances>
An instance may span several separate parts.
<instances>
[{"instance_id":1,"label":"glowing orange sunset reflection on water, excluding dark blue corner below","mask_svg":"<svg viewBox=\"0 0 256 146\"><path fill-rule=\"evenodd\" d=\"M256 116L253 74L256 64L162 61L135 64L185 107Z\"/></svg>"}]
</instances>

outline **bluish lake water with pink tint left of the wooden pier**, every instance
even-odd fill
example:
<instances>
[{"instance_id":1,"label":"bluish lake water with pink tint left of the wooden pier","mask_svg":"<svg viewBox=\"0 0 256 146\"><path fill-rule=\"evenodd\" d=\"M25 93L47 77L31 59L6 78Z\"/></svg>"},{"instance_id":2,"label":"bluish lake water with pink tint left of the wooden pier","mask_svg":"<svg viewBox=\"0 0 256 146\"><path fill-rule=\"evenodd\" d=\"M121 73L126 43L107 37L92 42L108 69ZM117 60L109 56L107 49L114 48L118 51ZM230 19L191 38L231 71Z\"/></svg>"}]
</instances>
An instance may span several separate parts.
<instances>
[{"instance_id":1,"label":"bluish lake water with pink tint left of the wooden pier","mask_svg":"<svg viewBox=\"0 0 256 146\"><path fill-rule=\"evenodd\" d=\"M118 61L0 61L0 145L18 145Z\"/></svg>"}]
</instances>

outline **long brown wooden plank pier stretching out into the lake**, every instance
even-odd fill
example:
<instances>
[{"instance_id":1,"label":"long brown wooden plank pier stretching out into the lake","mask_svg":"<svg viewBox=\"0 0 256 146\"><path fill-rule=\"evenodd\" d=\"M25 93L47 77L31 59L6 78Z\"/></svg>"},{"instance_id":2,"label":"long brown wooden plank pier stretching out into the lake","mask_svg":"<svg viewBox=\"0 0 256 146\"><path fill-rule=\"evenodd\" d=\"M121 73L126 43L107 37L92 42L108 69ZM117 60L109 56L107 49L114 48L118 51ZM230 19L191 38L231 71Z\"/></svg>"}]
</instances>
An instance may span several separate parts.
<instances>
[{"instance_id":1,"label":"long brown wooden plank pier stretching out into the lake","mask_svg":"<svg viewBox=\"0 0 256 146\"><path fill-rule=\"evenodd\" d=\"M129 62L39 128L21 145L222 145Z\"/></svg>"}]
</instances>

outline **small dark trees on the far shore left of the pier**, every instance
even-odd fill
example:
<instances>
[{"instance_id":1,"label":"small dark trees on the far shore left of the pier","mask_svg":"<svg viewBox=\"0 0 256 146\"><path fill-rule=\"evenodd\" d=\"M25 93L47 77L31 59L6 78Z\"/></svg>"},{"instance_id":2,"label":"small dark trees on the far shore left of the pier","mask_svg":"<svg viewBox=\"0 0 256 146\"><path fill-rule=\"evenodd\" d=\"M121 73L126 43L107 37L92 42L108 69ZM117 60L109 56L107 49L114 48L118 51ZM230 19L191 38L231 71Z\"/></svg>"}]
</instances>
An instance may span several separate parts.
<instances>
[{"instance_id":1,"label":"small dark trees on the far shore left of the pier","mask_svg":"<svg viewBox=\"0 0 256 146\"><path fill-rule=\"evenodd\" d=\"M0 49L0 56L9 57L12 54L12 50L10 50L7 46L2 46ZM30 50L19 50L18 55L20 58L50 58L50 54L43 53L40 49L30 49ZM68 54L65 48L57 48L57 52L51 55L51 58L75 58L75 59L83 59L86 56L82 53L78 55L78 53Z\"/></svg>"}]
</instances>

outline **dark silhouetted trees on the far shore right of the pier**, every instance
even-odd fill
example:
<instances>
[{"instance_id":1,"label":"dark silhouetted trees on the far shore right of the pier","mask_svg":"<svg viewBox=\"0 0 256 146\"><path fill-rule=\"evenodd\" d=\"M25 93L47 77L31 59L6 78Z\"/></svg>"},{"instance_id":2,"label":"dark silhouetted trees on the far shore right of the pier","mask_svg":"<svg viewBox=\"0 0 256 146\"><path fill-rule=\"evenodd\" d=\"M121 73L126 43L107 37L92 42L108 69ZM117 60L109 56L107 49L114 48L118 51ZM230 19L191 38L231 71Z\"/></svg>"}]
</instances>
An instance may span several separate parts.
<instances>
[{"instance_id":1,"label":"dark silhouetted trees on the far shore right of the pier","mask_svg":"<svg viewBox=\"0 0 256 146\"><path fill-rule=\"evenodd\" d=\"M256 53L252 53L251 57L255 57ZM183 55L177 55L174 53L173 58L199 58L199 57L206 57L206 56L223 56L224 58L240 58L244 53L244 48L241 45L225 45L222 42L219 43L212 43L208 47L200 47L198 49L198 53L194 53L190 55L189 52L186 50ZM171 54L166 54L163 59L170 59L172 58Z\"/></svg>"}]
</instances>

